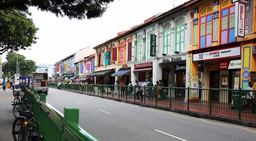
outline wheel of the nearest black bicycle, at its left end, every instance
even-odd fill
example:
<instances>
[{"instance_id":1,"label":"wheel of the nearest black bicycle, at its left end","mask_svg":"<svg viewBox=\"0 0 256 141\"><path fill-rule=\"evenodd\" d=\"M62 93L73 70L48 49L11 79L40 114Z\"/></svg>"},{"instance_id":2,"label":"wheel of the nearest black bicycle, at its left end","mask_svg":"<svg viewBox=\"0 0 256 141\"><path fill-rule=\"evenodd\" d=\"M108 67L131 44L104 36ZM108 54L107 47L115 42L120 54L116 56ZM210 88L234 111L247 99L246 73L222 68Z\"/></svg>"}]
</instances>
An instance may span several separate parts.
<instances>
[{"instance_id":1,"label":"wheel of the nearest black bicycle, at its left end","mask_svg":"<svg viewBox=\"0 0 256 141\"><path fill-rule=\"evenodd\" d=\"M22 133L24 128L24 118L16 118L13 122L13 139L14 141L21 141Z\"/></svg>"}]
</instances>

